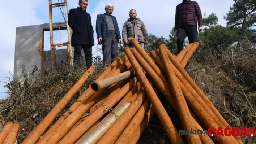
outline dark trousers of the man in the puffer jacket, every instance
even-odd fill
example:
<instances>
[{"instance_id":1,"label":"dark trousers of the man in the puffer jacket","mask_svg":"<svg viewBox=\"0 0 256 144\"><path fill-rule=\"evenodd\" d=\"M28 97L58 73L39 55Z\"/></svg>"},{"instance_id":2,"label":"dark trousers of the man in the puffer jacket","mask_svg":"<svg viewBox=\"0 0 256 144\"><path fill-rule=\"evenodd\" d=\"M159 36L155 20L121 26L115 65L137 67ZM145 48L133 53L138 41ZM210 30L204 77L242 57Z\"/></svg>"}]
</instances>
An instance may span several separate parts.
<instances>
[{"instance_id":1,"label":"dark trousers of the man in the puffer jacket","mask_svg":"<svg viewBox=\"0 0 256 144\"><path fill-rule=\"evenodd\" d=\"M197 27L196 26L184 26L179 27L177 30L177 48L178 54L183 50L183 42L186 36L188 36L189 43L196 42L197 40Z\"/></svg>"}]
</instances>

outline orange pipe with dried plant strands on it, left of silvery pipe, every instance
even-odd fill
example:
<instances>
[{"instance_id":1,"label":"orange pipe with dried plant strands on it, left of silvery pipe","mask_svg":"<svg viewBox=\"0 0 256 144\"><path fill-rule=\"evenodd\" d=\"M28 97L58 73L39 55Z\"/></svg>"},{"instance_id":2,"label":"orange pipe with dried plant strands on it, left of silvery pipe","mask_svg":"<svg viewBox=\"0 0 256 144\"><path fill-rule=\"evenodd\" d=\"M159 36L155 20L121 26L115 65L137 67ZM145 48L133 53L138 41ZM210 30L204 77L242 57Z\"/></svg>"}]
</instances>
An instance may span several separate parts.
<instances>
[{"instance_id":1,"label":"orange pipe with dried plant strands on it, left of silvery pipe","mask_svg":"<svg viewBox=\"0 0 256 144\"><path fill-rule=\"evenodd\" d=\"M136 84L136 82L137 78L134 77L117 93L109 95L103 104L97 110L95 110L94 113L86 118L86 121L81 122L79 126L73 128L72 131L69 131L59 141L59 144L76 142L87 130L89 130L91 126L93 126L104 114L106 114L108 110L110 110L123 96L125 96Z\"/></svg>"}]
</instances>

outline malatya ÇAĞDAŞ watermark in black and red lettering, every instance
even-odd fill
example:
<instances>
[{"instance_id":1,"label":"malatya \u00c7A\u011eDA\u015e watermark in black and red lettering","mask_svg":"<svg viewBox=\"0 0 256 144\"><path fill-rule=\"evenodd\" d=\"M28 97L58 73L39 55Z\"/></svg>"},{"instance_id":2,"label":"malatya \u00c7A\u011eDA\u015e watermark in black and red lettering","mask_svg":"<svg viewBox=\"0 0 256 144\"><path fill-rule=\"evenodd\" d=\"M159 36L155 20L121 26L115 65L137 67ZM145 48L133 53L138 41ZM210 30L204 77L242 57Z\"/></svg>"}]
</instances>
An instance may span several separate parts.
<instances>
[{"instance_id":1,"label":"malatya \u00c7A\u011eDA\u015e watermark in black and red lettering","mask_svg":"<svg viewBox=\"0 0 256 144\"><path fill-rule=\"evenodd\" d=\"M210 127L208 130L179 130L179 135L209 135L210 137L218 137L218 136L255 136L255 127L242 127L241 129L238 127L230 127L226 126L225 128L218 127Z\"/></svg>"}]
</instances>

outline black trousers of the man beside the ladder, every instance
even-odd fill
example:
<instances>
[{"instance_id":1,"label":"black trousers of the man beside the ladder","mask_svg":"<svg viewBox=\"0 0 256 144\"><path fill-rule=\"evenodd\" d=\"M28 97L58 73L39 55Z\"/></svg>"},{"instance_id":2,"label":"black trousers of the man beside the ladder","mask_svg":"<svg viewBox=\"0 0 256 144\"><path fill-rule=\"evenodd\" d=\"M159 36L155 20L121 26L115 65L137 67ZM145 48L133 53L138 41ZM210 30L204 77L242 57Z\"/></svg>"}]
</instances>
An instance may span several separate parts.
<instances>
[{"instance_id":1,"label":"black trousers of the man beside the ladder","mask_svg":"<svg viewBox=\"0 0 256 144\"><path fill-rule=\"evenodd\" d=\"M82 49L85 53L86 67L89 69L93 65L92 48L89 45L74 45L74 62L75 64L81 62Z\"/></svg>"}]
</instances>

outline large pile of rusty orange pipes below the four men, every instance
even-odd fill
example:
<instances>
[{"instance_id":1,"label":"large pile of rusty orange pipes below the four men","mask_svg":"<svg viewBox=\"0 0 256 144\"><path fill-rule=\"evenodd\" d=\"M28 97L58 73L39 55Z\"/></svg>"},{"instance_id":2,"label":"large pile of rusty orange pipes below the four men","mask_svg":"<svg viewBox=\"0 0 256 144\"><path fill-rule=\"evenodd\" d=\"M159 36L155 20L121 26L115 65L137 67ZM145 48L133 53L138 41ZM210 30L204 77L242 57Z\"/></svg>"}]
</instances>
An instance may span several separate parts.
<instances>
[{"instance_id":1,"label":"large pile of rusty orange pipes below the four men","mask_svg":"<svg viewBox=\"0 0 256 144\"><path fill-rule=\"evenodd\" d=\"M165 97L179 115L184 130L217 129L228 125L184 69L199 46L197 42L189 44L177 56L162 44L150 52L153 59L135 39L131 39L131 43L135 48L125 47L126 55L122 59L116 58L95 81L115 77L116 83L98 90L89 87L62 117L52 123L93 72L95 67L92 66L23 143L136 144L155 114L173 144L242 143L232 136L218 136L215 141L208 135L186 135L186 139L182 139L158 98L159 94ZM135 74L129 73L125 79L116 81L119 74L128 71Z\"/></svg>"}]
</instances>

